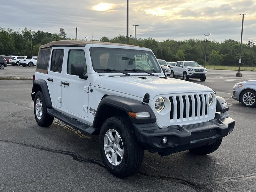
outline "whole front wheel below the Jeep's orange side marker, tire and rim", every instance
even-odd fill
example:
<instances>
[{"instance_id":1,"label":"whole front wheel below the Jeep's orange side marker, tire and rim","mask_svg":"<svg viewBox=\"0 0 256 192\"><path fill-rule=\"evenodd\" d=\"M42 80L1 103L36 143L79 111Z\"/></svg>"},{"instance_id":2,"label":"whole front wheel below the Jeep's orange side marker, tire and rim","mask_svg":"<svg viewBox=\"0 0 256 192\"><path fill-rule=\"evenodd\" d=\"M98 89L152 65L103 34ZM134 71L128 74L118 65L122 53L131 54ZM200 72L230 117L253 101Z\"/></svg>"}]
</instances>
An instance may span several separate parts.
<instances>
[{"instance_id":1,"label":"whole front wheel below the Jeep's orange side marker, tire and rim","mask_svg":"<svg viewBox=\"0 0 256 192\"><path fill-rule=\"evenodd\" d=\"M128 177L140 169L144 150L139 145L129 119L108 118L100 130L100 154L109 172Z\"/></svg>"}]
</instances>

